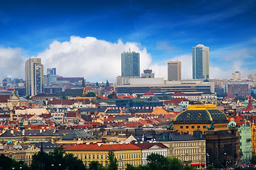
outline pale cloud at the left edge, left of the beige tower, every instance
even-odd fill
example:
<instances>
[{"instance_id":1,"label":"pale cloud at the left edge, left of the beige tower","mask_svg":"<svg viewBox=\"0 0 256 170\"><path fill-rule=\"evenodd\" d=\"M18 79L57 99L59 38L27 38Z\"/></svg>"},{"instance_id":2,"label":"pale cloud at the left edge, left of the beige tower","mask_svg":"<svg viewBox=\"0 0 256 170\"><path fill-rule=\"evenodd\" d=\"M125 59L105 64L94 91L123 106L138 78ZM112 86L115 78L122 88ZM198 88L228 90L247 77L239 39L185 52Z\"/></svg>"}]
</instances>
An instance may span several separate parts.
<instances>
[{"instance_id":1,"label":"pale cloud at the left edge, left of the beige tower","mask_svg":"<svg viewBox=\"0 0 256 170\"><path fill-rule=\"evenodd\" d=\"M25 77L25 57L20 48L0 47L0 62L0 82L6 77Z\"/></svg>"}]
</instances>

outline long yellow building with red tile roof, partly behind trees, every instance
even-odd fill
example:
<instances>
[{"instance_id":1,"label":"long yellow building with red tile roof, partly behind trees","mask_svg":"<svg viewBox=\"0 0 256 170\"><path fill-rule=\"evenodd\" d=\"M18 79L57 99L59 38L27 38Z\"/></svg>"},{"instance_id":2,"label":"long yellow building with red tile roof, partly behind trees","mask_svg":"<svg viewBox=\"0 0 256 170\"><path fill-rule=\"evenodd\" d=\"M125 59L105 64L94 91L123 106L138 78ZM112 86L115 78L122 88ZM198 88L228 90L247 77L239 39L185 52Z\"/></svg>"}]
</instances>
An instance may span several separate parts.
<instances>
[{"instance_id":1,"label":"long yellow building with red tile roof, partly behind trees","mask_svg":"<svg viewBox=\"0 0 256 170\"><path fill-rule=\"evenodd\" d=\"M75 145L64 149L67 154L81 159L84 164L98 161L106 166L108 162L108 151L113 151L118 160L118 169L126 169L126 164L138 166L141 164L141 149L133 144L89 144Z\"/></svg>"}]
</instances>

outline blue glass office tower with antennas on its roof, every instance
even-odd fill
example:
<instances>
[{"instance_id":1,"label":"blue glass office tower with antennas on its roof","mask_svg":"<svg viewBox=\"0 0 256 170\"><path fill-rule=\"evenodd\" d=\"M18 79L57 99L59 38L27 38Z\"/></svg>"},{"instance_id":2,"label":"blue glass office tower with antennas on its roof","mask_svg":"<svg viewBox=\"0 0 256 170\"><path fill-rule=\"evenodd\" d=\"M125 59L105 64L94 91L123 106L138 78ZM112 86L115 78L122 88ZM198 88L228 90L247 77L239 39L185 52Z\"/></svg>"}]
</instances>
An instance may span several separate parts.
<instances>
[{"instance_id":1,"label":"blue glass office tower with antennas on its roof","mask_svg":"<svg viewBox=\"0 0 256 170\"><path fill-rule=\"evenodd\" d=\"M122 77L140 77L140 53L123 52L121 55Z\"/></svg>"}]
</instances>

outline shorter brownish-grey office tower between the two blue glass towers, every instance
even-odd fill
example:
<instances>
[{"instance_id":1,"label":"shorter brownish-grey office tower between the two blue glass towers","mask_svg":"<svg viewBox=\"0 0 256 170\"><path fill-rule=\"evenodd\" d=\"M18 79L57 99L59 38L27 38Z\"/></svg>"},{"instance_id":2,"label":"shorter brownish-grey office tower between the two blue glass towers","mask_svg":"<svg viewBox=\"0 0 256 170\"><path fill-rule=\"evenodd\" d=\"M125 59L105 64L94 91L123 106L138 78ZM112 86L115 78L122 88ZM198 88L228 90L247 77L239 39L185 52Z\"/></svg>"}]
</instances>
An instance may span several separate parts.
<instances>
[{"instance_id":1,"label":"shorter brownish-grey office tower between the two blue glass towers","mask_svg":"<svg viewBox=\"0 0 256 170\"><path fill-rule=\"evenodd\" d=\"M182 79L182 62L167 62L168 81Z\"/></svg>"}]
</instances>

